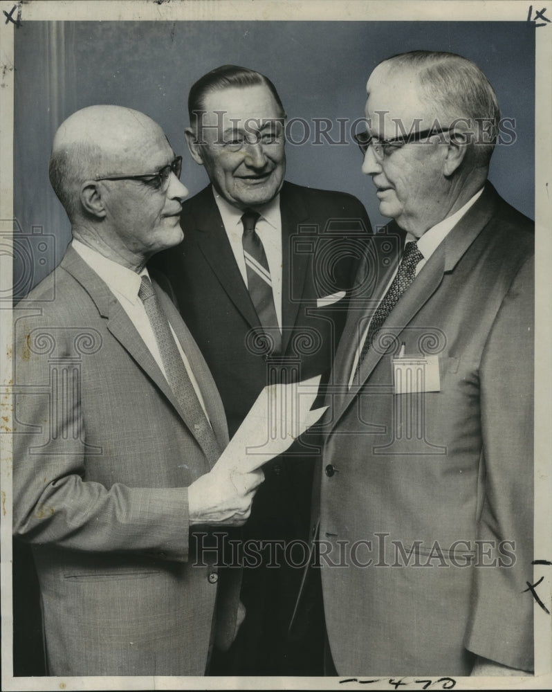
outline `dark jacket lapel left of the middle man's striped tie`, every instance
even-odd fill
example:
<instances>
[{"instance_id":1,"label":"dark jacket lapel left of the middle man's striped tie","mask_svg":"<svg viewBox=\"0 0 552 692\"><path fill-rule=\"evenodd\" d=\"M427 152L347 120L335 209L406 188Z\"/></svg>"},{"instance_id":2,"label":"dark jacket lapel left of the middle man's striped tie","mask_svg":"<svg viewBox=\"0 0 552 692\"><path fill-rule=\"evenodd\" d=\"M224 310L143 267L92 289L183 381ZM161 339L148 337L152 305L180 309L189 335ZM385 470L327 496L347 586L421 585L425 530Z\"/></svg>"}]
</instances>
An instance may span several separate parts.
<instances>
[{"instance_id":1,"label":"dark jacket lapel left of the middle man's striped tie","mask_svg":"<svg viewBox=\"0 0 552 692\"><path fill-rule=\"evenodd\" d=\"M186 233L188 223L191 224L192 228L198 230L196 233L197 244L205 260L212 268L214 276L224 291L228 293L228 297L248 322L248 325L260 327L261 323L251 302L247 286L239 272L219 208L214 201L210 187L196 197L192 217L191 222L183 217L184 233Z\"/></svg>"}]
</instances>

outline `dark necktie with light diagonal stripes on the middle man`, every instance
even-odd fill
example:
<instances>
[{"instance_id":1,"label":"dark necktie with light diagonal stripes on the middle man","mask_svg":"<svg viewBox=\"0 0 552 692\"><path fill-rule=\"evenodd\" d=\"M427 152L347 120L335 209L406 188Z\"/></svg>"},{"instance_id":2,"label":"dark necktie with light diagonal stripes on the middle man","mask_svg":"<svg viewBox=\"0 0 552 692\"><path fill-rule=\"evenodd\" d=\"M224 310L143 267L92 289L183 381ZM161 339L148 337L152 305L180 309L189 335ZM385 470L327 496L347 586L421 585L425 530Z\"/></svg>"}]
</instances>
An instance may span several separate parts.
<instances>
[{"instance_id":1,"label":"dark necktie with light diagonal stripes on the middle man","mask_svg":"<svg viewBox=\"0 0 552 692\"><path fill-rule=\"evenodd\" d=\"M246 209L244 212L241 217L243 224L241 244L243 245L243 257L246 260L249 295L259 316L259 322L275 343L273 352L278 353L282 347L282 335L276 317L268 262L261 239L255 230L259 216L260 214L252 209Z\"/></svg>"}]
</instances>

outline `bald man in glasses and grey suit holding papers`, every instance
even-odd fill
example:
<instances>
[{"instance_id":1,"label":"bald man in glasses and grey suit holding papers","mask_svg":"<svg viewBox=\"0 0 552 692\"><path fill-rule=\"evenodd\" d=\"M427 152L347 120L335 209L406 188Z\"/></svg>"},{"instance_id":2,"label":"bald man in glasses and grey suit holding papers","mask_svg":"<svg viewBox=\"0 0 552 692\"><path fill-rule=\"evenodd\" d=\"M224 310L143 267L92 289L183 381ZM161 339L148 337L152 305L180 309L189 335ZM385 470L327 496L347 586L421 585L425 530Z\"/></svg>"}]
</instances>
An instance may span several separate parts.
<instances>
[{"instance_id":1,"label":"bald man in glasses and grey suit holding papers","mask_svg":"<svg viewBox=\"0 0 552 692\"><path fill-rule=\"evenodd\" d=\"M182 240L180 172L131 109L77 111L55 135L73 240L14 327L13 526L33 549L50 675L203 675L243 618L239 570L198 546L245 522L262 473L212 470L221 399L146 268Z\"/></svg>"}]
</instances>

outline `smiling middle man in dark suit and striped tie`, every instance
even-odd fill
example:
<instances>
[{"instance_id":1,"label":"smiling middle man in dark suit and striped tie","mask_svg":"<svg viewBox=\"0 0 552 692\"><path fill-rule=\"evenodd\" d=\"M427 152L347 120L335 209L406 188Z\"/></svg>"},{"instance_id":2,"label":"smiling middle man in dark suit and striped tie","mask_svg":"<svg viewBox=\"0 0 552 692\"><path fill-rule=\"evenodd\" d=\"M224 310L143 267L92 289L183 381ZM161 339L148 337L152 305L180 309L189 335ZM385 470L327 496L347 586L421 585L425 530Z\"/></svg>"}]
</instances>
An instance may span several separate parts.
<instances>
[{"instance_id":1,"label":"smiling middle man in dark suit and striped tie","mask_svg":"<svg viewBox=\"0 0 552 692\"><path fill-rule=\"evenodd\" d=\"M284 181L285 112L264 75L217 68L192 86L188 108L187 144L212 184L185 202L184 241L159 260L232 437L269 381L327 379L369 221L349 194ZM266 467L243 540L272 541L274 554L266 547L261 565L244 570L248 614L221 673L318 671L320 628L286 639L301 570L284 558L285 545L307 537L317 450L302 439Z\"/></svg>"}]
</instances>

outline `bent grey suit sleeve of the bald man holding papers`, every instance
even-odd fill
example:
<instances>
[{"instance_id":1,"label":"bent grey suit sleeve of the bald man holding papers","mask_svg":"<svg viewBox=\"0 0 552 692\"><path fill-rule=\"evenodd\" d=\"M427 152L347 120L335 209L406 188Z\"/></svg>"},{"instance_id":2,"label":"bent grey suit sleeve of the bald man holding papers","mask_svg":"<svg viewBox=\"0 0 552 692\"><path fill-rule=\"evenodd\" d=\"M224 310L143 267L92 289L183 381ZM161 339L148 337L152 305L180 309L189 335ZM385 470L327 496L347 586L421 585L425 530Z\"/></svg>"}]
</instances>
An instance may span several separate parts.
<instances>
[{"instance_id":1,"label":"bent grey suit sleeve of the bald man holding papers","mask_svg":"<svg viewBox=\"0 0 552 692\"><path fill-rule=\"evenodd\" d=\"M18 321L12 436L15 536L73 550L141 552L186 561L187 489L120 483L107 489L83 480L86 420L79 387L63 391L50 385L46 354L33 352L25 336L40 322ZM66 353L65 364L70 365L70 344Z\"/></svg>"}]
</instances>

